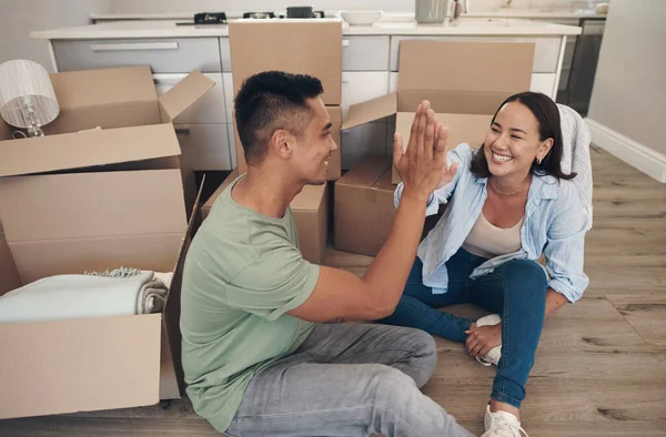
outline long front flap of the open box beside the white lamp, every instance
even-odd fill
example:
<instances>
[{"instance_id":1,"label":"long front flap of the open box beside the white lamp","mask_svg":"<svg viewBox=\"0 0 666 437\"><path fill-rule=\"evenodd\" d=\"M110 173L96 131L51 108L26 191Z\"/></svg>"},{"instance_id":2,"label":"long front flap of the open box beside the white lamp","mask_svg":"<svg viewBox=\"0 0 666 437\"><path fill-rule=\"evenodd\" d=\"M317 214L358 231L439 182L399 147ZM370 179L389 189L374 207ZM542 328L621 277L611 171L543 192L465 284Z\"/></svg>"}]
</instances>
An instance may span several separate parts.
<instances>
[{"instance_id":1,"label":"long front flap of the open box beside the white lamp","mask_svg":"<svg viewBox=\"0 0 666 437\"><path fill-rule=\"evenodd\" d=\"M0 143L0 176L44 173L180 155L169 123L10 140Z\"/></svg>"}]
</instances>

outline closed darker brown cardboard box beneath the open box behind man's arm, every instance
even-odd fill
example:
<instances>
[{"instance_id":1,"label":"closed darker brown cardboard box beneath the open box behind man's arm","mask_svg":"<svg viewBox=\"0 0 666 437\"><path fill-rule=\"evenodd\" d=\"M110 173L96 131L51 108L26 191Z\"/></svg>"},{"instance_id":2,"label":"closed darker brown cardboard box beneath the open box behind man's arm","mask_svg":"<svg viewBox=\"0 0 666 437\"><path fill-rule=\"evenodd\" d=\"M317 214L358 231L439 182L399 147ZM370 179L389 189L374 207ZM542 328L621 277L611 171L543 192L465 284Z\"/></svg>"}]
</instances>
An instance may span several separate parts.
<instances>
[{"instance_id":1,"label":"closed darker brown cardboard box beneath the open box behind man's arm","mask_svg":"<svg viewBox=\"0 0 666 437\"><path fill-rule=\"evenodd\" d=\"M335 182L336 250L375 256L382 248L396 211L391 156L367 155Z\"/></svg>"}]
</instances>

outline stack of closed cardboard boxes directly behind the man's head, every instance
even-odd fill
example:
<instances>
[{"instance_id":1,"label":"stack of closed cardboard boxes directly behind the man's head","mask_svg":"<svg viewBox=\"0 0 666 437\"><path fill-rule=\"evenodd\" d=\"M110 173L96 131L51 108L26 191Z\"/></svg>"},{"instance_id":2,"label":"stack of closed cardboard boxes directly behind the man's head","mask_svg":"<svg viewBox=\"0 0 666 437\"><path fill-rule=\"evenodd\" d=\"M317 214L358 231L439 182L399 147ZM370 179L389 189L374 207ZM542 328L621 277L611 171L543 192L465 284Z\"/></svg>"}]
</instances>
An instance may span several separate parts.
<instances>
[{"instance_id":1,"label":"stack of closed cardboard boxes directly behind the man's head","mask_svg":"<svg viewBox=\"0 0 666 437\"><path fill-rule=\"evenodd\" d=\"M329 160L329 181L341 175L340 130L342 126L342 27L337 21L263 22L246 21L229 24L233 88L236 93L252 74L280 70L306 73L320 79L321 95L333 126L331 135L339 148ZM234 121L235 130L235 121ZM238 169L223 186L248 171L243 148L235 132ZM221 187L222 189L222 187ZM203 206L208 216L212 203L222 190ZM291 209L299 228L299 244L304 257L324 263L329 236L329 186L306 186L292 202Z\"/></svg>"}]
</instances>

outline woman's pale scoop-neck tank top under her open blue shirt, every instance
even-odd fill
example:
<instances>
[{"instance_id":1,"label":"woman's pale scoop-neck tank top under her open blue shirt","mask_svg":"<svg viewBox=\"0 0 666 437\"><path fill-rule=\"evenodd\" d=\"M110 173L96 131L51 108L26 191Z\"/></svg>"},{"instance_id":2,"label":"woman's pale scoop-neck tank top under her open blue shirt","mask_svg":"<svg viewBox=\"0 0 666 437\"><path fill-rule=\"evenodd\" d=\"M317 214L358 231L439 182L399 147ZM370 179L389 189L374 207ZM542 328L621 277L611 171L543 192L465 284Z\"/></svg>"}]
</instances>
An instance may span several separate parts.
<instances>
[{"instance_id":1,"label":"woman's pale scoop-neck tank top under her open blue shirt","mask_svg":"<svg viewBox=\"0 0 666 437\"><path fill-rule=\"evenodd\" d=\"M521 250L521 227L524 220L524 216L521 217L518 223L508 228L497 227L488 222L482 212L465 238L463 248L484 258L517 252Z\"/></svg>"}]
</instances>

